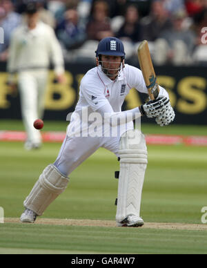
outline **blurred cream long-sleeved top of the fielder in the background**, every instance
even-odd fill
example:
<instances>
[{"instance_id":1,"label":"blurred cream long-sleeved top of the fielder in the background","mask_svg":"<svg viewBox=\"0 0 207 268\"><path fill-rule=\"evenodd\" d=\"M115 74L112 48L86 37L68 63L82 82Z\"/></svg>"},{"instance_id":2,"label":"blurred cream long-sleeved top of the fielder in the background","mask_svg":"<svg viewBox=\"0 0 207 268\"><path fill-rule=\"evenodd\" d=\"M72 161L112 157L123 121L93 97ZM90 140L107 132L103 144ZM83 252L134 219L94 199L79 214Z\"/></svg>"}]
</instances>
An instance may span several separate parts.
<instances>
[{"instance_id":1,"label":"blurred cream long-sleeved top of the fielder in the background","mask_svg":"<svg viewBox=\"0 0 207 268\"><path fill-rule=\"evenodd\" d=\"M55 73L63 73L63 53L50 26L39 21L32 30L26 24L14 30L9 48L9 73L48 68L50 59L55 66Z\"/></svg>"}]
</instances>

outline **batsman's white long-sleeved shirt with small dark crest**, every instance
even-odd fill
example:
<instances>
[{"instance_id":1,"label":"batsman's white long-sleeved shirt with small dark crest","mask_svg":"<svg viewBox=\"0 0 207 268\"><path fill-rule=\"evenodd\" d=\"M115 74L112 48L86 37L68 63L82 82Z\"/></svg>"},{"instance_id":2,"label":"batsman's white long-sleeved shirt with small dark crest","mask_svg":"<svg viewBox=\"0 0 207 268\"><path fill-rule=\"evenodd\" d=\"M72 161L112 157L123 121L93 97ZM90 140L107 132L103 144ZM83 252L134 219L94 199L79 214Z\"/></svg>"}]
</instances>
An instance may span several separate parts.
<instances>
[{"instance_id":1,"label":"batsman's white long-sleeved shirt with small dark crest","mask_svg":"<svg viewBox=\"0 0 207 268\"><path fill-rule=\"evenodd\" d=\"M101 66L88 70L81 80L79 101L77 102L75 112L72 113L67 131L68 135L85 131L87 136L88 129L91 126L91 129L97 127L97 122L100 122L100 125L103 127L103 124L106 124L106 121L104 122L103 120L104 113L108 113L111 118L115 117L114 124L110 124L111 128L117 127L117 124L120 124L117 118L124 116L126 124L120 126L119 135L124 133L126 129L132 129L132 119L141 117L139 108L121 112L121 106L131 88L137 89L140 93L148 94L144 77L139 68L125 64L125 67L115 80L111 80L105 75L101 70ZM168 97L166 90L161 86L159 88L159 97ZM128 117L127 119L126 115L132 115L133 118ZM81 130L79 129L80 125Z\"/></svg>"}]
</instances>

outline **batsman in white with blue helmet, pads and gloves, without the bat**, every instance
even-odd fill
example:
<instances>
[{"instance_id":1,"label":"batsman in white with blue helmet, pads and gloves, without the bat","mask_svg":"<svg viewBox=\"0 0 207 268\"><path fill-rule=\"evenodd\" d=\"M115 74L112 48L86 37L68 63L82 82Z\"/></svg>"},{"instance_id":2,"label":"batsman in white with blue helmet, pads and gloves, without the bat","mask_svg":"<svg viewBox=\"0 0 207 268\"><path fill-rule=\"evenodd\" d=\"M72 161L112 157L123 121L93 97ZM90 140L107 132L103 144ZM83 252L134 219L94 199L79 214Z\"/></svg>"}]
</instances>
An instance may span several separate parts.
<instances>
[{"instance_id":1,"label":"batsman in white with blue helmet, pads and gloves, without the bat","mask_svg":"<svg viewBox=\"0 0 207 268\"><path fill-rule=\"evenodd\" d=\"M141 70L124 64L124 46L106 37L96 50L97 66L81 80L79 101L70 118L67 135L54 164L49 164L23 202L21 222L34 222L68 185L68 175L99 147L120 160L117 226L140 227L141 191L148 153L144 135L134 130L133 120L141 115L155 117L157 124L170 124L175 113L168 93L160 86L157 99L121 112L131 88L148 93Z\"/></svg>"}]
</instances>

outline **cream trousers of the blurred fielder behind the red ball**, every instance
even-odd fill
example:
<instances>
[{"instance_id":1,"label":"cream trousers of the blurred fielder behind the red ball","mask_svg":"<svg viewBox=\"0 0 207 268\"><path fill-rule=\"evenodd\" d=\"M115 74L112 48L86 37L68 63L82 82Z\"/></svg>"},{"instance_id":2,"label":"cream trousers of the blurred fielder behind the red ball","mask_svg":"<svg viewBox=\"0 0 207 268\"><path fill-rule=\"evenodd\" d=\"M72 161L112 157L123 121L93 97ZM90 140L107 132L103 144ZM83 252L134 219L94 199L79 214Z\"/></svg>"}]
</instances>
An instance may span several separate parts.
<instances>
[{"instance_id":1,"label":"cream trousers of the blurred fielder behind the red ball","mask_svg":"<svg viewBox=\"0 0 207 268\"><path fill-rule=\"evenodd\" d=\"M41 143L41 134L34 128L33 122L43 117L47 80L46 69L22 71L18 75L21 115L27 140L37 144Z\"/></svg>"}]
</instances>

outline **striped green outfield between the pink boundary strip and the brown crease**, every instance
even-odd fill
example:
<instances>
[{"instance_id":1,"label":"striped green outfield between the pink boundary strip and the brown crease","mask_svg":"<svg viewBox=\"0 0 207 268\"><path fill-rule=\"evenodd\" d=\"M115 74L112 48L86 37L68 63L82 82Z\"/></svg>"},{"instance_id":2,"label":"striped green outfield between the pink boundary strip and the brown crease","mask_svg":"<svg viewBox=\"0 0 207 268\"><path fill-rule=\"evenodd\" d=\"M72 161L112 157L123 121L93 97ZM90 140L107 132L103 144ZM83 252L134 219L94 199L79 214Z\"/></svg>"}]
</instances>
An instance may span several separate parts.
<instances>
[{"instance_id":1,"label":"striped green outfield between the pink boundary strip and the brown crease","mask_svg":"<svg viewBox=\"0 0 207 268\"><path fill-rule=\"evenodd\" d=\"M55 161L60 144L24 151L21 142L1 142L0 206L6 217L18 217L22 202L44 167ZM147 221L200 223L207 205L207 148L148 146L141 215ZM119 170L117 158L99 149L70 175L68 189L51 204L48 218L115 218ZM12 196L12 199L10 198Z\"/></svg>"}]
</instances>

